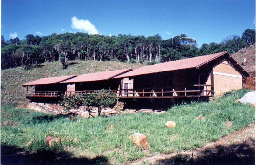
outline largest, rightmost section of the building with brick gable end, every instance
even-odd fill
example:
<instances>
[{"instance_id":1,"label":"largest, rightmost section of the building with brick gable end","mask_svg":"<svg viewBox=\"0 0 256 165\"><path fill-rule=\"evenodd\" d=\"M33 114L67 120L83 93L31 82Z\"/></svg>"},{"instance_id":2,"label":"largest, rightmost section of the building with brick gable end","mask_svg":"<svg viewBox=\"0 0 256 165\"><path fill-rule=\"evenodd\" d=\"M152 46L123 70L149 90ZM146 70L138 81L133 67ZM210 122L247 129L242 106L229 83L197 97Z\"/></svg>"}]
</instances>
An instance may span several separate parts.
<instances>
[{"instance_id":1,"label":"largest, rightmost section of the building with brick gable end","mask_svg":"<svg viewBox=\"0 0 256 165\"><path fill-rule=\"evenodd\" d=\"M144 66L114 79L122 98L209 98L242 89L248 76L228 52L220 52Z\"/></svg>"}]
</instances>

